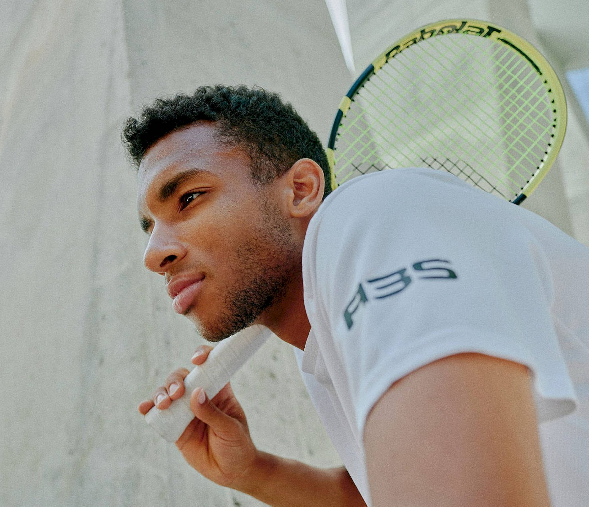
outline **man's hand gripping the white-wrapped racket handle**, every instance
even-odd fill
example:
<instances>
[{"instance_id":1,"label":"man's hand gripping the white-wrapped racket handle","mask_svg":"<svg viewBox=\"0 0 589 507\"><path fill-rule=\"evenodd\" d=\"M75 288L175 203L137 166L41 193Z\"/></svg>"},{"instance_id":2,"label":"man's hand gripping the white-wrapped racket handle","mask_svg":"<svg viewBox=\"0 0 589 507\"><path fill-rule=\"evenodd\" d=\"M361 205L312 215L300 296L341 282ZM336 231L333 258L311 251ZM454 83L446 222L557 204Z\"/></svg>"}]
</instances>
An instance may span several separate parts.
<instances>
[{"instance_id":1,"label":"man's hand gripping the white-wrapped racket handle","mask_svg":"<svg viewBox=\"0 0 589 507\"><path fill-rule=\"evenodd\" d=\"M193 364L203 364L212 347L201 345L193 355ZM173 400L184 394L186 368L178 368L167 378L164 386L155 390L153 399L139 405L145 415L153 406L160 410L170 407ZM197 388L190 397L194 419L188 424L176 446L190 466L221 486L241 489L240 485L253 472L258 451L247 427L243 409L227 384L209 400L203 389Z\"/></svg>"}]
</instances>

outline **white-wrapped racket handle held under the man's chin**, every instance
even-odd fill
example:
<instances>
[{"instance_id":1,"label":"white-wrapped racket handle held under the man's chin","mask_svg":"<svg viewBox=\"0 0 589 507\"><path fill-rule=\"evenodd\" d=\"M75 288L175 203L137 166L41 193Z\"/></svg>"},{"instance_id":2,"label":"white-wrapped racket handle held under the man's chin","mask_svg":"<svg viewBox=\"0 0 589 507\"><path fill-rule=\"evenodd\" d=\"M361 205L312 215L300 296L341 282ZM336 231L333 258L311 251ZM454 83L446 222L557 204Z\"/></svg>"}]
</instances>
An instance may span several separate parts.
<instances>
[{"instance_id":1,"label":"white-wrapped racket handle held under the man's chin","mask_svg":"<svg viewBox=\"0 0 589 507\"><path fill-rule=\"evenodd\" d=\"M195 366L184 378L183 396L172 401L165 410L153 407L145 414L147 424L168 442L176 442L194 419L190 410L192 391L203 387L212 399L271 334L272 331L262 325L252 325L221 341L211 350L207 360L201 366Z\"/></svg>"}]
</instances>

